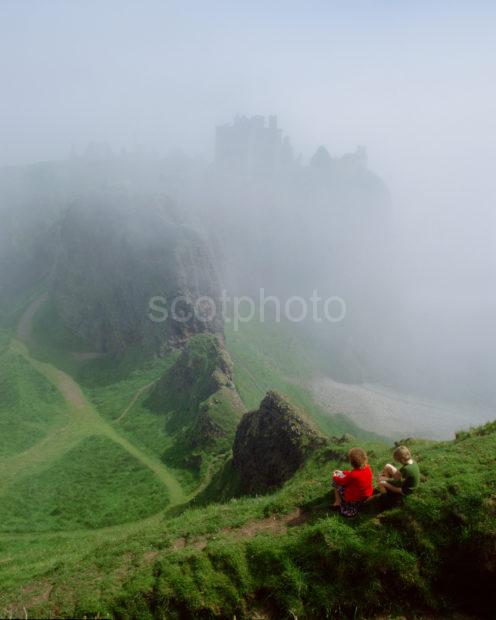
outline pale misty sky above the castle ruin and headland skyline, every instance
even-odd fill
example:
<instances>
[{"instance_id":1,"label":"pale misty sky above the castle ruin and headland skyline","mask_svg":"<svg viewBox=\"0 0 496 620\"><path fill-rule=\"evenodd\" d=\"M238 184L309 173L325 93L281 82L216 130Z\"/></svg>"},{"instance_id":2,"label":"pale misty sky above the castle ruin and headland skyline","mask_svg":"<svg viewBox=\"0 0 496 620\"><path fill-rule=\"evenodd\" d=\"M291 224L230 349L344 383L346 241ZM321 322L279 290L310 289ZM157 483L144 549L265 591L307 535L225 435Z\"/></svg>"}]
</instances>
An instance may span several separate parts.
<instances>
[{"instance_id":1,"label":"pale misty sky above the castle ruin and headland skyline","mask_svg":"<svg viewBox=\"0 0 496 620\"><path fill-rule=\"evenodd\" d=\"M413 271L444 252L487 282L495 18L482 0L0 0L0 165L91 140L210 159L216 124L277 113L304 158L368 147Z\"/></svg>"}]
</instances>

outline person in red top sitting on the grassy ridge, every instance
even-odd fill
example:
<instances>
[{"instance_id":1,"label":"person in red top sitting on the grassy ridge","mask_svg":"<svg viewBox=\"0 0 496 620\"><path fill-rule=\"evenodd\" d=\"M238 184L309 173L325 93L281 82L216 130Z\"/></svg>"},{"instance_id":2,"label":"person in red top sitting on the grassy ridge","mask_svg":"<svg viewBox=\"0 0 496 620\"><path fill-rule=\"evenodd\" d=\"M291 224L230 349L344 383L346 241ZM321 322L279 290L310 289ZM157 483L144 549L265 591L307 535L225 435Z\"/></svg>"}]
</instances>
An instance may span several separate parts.
<instances>
[{"instance_id":1,"label":"person in red top sitting on the grassy ridge","mask_svg":"<svg viewBox=\"0 0 496 620\"><path fill-rule=\"evenodd\" d=\"M374 492L373 476L365 450L352 448L348 458L353 469L351 471L337 469L332 476L334 506L346 517L355 517L362 504Z\"/></svg>"}]
</instances>

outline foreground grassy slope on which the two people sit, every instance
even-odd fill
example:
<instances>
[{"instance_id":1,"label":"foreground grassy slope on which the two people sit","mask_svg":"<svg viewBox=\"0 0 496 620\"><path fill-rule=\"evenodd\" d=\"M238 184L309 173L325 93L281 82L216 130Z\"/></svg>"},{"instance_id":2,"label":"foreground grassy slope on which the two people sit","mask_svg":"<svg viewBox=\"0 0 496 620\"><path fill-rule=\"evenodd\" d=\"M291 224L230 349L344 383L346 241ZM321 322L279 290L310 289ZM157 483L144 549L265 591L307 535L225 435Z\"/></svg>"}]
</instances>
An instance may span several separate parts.
<instances>
[{"instance_id":1,"label":"foreground grassy slope on which the two people sit","mask_svg":"<svg viewBox=\"0 0 496 620\"><path fill-rule=\"evenodd\" d=\"M404 505L329 511L350 444L315 453L281 490L83 536L0 537L0 612L37 617L490 617L496 603L496 434L413 442L423 482ZM377 470L390 449L367 446ZM40 560L40 545L57 563ZM23 573L13 557L22 555ZM470 592L467 591L470 584Z\"/></svg>"}]
</instances>

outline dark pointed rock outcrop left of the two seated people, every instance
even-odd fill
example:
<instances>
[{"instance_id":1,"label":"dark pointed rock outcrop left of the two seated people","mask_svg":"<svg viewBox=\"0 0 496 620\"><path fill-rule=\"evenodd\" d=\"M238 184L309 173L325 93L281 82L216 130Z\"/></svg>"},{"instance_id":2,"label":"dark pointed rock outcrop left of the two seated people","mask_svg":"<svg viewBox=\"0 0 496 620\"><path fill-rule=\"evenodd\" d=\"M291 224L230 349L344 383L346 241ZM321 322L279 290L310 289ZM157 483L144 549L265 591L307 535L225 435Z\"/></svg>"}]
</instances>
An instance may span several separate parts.
<instances>
[{"instance_id":1,"label":"dark pointed rock outcrop left of the two seated people","mask_svg":"<svg viewBox=\"0 0 496 620\"><path fill-rule=\"evenodd\" d=\"M233 463L245 491L281 486L325 439L305 414L277 392L268 392L257 411L245 414L236 431Z\"/></svg>"}]
</instances>

